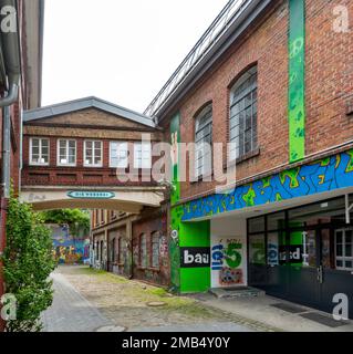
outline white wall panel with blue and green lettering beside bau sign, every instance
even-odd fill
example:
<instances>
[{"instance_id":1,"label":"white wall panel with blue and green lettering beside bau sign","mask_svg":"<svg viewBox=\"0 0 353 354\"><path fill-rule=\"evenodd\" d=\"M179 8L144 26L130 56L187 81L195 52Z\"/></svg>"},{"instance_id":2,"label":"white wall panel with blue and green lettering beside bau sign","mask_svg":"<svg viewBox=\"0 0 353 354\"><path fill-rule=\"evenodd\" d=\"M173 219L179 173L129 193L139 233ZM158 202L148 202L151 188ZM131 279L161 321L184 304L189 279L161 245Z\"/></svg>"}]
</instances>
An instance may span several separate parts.
<instances>
[{"instance_id":1,"label":"white wall panel with blue and green lettering beside bau sign","mask_svg":"<svg viewBox=\"0 0 353 354\"><path fill-rule=\"evenodd\" d=\"M211 287L245 285L246 237L211 237Z\"/></svg>"}]
</instances>

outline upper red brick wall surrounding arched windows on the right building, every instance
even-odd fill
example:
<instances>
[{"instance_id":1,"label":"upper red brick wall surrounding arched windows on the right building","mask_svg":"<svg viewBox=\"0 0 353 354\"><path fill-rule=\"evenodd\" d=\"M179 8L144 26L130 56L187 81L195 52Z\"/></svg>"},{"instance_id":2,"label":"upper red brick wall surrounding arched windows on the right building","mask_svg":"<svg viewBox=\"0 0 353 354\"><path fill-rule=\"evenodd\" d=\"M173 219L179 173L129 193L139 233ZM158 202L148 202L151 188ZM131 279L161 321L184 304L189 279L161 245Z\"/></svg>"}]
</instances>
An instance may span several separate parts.
<instances>
[{"instance_id":1,"label":"upper red brick wall surrounding arched windows on the right building","mask_svg":"<svg viewBox=\"0 0 353 354\"><path fill-rule=\"evenodd\" d=\"M307 1L307 156L347 143L353 137L353 118L346 114L353 100L353 69L350 65L353 37L332 30L333 8L342 4L353 18L351 1ZM195 115L211 102L212 139L226 144L229 139L229 90L248 67L257 65L259 150L237 164L238 180L289 164L288 23L288 1L274 1L170 111L180 112L181 142L193 143ZM169 117L163 122L166 138ZM181 198L211 194L215 186L215 183L181 183Z\"/></svg>"}]
</instances>

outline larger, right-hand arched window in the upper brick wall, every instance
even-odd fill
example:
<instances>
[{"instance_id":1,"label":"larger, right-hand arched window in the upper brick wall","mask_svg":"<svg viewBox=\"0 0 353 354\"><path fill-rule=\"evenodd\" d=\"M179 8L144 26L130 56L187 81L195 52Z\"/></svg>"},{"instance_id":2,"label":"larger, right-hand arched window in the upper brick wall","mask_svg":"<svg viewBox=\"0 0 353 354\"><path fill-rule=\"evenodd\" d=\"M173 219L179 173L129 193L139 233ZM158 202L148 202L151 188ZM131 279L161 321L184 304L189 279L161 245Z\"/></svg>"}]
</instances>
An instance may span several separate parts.
<instances>
[{"instance_id":1,"label":"larger, right-hand arched window in the upper brick wall","mask_svg":"<svg viewBox=\"0 0 353 354\"><path fill-rule=\"evenodd\" d=\"M258 146L258 70L249 69L230 91L229 159L242 157Z\"/></svg>"}]
</instances>

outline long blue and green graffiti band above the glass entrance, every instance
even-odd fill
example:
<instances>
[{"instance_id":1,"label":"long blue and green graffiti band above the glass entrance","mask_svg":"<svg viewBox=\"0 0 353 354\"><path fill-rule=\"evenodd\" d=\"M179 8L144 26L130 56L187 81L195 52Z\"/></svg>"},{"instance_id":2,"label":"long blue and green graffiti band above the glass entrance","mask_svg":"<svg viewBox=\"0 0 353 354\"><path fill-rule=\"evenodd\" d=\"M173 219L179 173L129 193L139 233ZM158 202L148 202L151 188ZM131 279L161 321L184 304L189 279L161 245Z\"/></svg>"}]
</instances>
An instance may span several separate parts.
<instances>
[{"instance_id":1,"label":"long blue and green graffiti band above the glass entrance","mask_svg":"<svg viewBox=\"0 0 353 354\"><path fill-rule=\"evenodd\" d=\"M175 211L188 221L247 207L353 187L353 150L239 186L228 194L193 200Z\"/></svg>"}]
</instances>

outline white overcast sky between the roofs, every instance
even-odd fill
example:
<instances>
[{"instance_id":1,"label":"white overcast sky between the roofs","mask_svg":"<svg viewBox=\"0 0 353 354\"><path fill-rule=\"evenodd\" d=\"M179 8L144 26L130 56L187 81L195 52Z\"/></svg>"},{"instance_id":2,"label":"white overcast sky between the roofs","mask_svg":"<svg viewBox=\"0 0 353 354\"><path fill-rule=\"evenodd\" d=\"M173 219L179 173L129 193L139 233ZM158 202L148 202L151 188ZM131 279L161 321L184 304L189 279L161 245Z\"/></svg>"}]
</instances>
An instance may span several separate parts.
<instances>
[{"instance_id":1,"label":"white overcast sky between the roofs","mask_svg":"<svg viewBox=\"0 0 353 354\"><path fill-rule=\"evenodd\" d=\"M94 95L143 112L226 3L45 1L42 105Z\"/></svg>"}]
</instances>

